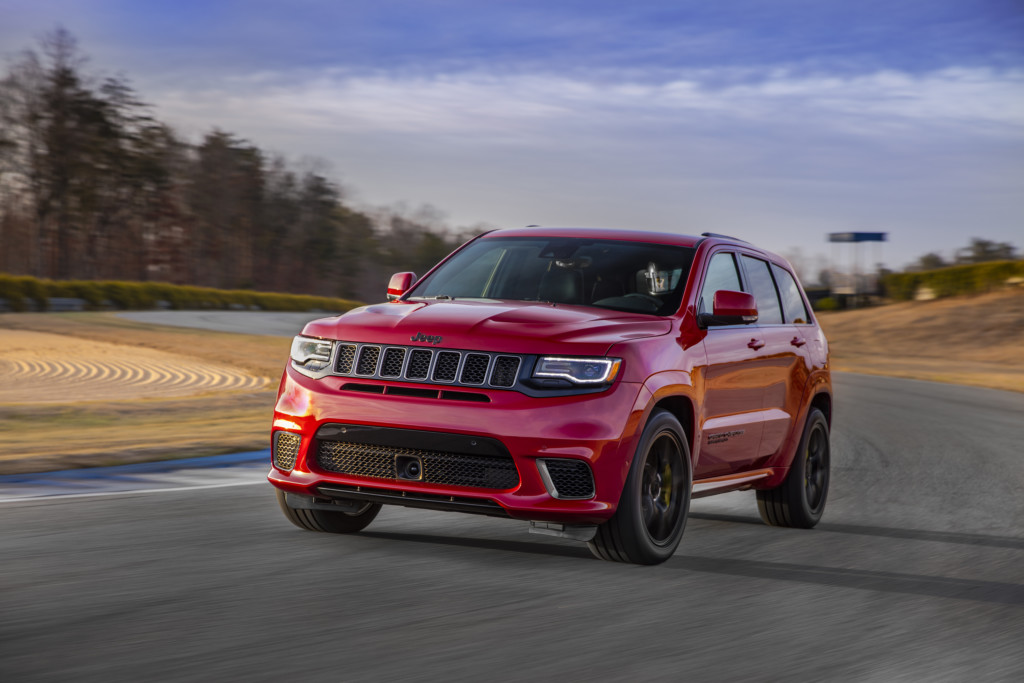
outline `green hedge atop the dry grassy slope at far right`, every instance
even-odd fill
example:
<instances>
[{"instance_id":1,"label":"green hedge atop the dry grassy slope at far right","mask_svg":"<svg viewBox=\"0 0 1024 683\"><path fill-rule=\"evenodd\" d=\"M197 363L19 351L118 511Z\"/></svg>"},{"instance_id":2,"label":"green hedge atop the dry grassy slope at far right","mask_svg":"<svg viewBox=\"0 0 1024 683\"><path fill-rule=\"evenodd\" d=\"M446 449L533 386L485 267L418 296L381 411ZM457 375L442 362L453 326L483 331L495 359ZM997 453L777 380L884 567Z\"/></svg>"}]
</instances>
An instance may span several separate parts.
<instances>
[{"instance_id":1,"label":"green hedge atop the dry grassy slope at far right","mask_svg":"<svg viewBox=\"0 0 1024 683\"><path fill-rule=\"evenodd\" d=\"M982 294L1005 287L1011 278L1024 278L1024 261L991 261L923 272L894 272L886 275L883 283L889 298L908 301L922 288L932 290L936 297Z\"/></svg>"}]
</instances>

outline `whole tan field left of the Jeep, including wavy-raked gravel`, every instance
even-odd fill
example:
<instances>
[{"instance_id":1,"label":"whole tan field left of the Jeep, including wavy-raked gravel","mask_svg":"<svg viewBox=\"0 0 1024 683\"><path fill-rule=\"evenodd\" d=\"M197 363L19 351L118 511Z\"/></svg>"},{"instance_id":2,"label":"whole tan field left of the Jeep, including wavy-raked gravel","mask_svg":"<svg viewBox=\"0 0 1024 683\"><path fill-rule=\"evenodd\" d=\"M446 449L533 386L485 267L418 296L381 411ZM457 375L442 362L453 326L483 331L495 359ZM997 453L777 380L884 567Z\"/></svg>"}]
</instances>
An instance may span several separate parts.
<instances>
[{"instance_id":1,"label":"whole tan field left of the Jeep, including wavy-raked gravel","mask_svg":"<svg viewBox=\"0 0 1024 683\"><path fill-rule=\"evenodd\" d=\"M0 315L0 473L265 449L289 343L108 313Z\"/></svg>"}]
</instances>

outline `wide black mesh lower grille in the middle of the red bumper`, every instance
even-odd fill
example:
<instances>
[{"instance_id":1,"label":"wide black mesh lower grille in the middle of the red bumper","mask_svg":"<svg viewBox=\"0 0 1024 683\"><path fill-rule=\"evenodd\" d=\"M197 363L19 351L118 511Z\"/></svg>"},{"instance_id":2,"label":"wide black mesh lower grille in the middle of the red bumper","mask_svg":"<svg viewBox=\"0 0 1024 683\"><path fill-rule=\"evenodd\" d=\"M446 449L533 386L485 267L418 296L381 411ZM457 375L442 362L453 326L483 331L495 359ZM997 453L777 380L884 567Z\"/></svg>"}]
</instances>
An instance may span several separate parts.
<instances>
[{"instance_id":1,"label":"wide black mesh lower grille in the middle of the red bumper","mask_svg":"<svg viewBox=\"0 0 1024 683\"><path fill-rule=\"evenodd\" d=\"M423 481L443 486L513 488L519 472L510 456L476 456L401 446L371 445L346 441L321 441L316 463L340 474L397 479L394 460L415 456L423 463Z\"/></svg>"}]
</instances>

